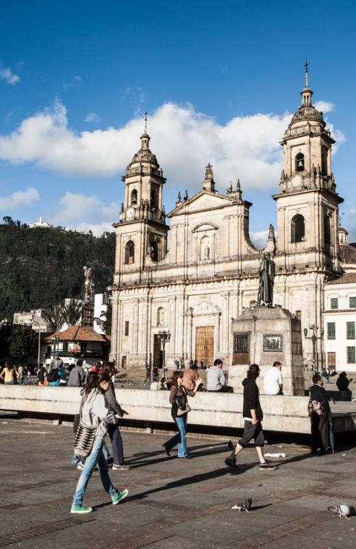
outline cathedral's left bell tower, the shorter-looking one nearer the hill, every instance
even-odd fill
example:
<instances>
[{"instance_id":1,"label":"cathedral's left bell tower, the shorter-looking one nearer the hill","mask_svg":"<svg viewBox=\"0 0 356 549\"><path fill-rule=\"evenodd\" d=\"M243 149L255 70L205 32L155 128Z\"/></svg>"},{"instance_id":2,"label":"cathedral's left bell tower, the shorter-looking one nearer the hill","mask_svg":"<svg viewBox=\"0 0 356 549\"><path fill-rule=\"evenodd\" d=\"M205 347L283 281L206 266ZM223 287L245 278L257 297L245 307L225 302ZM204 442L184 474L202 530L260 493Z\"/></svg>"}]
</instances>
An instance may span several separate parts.
<instances>
[{"instance_id":1,"label":"cathedral's left bell tower, the shorter-looking one nearer the hill","mask_svg":"<svg viewBox=\"0 0 356 549\"><path fill-rule=\"evenodd\" d=\"M125 285L144 280L144 269L162 261L167 251L166 213L162 190L163 170L149 148L147 113L141 148L127 166L122 180L125 198L121 204L117 231L114 283ZM127 277L125 275L128 275Z\"/></svg>"}]
</instances>

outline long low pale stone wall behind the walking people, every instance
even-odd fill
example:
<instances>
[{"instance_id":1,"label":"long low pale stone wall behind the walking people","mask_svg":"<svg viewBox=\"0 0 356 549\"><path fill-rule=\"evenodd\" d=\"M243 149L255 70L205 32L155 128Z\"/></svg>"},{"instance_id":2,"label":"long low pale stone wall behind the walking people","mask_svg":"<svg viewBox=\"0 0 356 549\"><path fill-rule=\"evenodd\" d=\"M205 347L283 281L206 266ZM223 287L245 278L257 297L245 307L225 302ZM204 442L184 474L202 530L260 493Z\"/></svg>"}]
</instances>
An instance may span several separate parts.
<instances>
[{"instance_id":1,"label":"long low pale stone wall behind the walking people","mask_svg":"<svg viewBox=\"0 0 356 549\"><path fill-rule=\"evenodd\" d=\"M129 419L171 422L168 391L139 389L116 390ZM211 427L242 428L242 395L236 393L197 393L189 398L192 411L189 423ZM0 385L0 410L40 414L74 415L81 397L75 387L38 387ZM309 433L308 397L261 395L264 429L277 432ZM356 413L335 414L335 432L356 430Z\"/></svg>"}]
</instances>

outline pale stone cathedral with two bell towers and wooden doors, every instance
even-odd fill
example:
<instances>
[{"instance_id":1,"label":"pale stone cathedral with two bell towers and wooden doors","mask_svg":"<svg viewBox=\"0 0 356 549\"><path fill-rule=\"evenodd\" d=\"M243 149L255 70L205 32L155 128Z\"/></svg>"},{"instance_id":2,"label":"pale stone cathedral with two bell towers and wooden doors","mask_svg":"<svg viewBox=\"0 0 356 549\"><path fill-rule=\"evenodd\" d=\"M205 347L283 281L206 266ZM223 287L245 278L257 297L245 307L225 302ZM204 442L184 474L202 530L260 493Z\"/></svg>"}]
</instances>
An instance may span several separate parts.
<instances>
[{"instance_id":1,"label":"pale stone cathedral with two bell towers and wooden doors","mask_svg":"<svg viewBox=\"0 0 356 549\"><path fill-rule=\"evenodd\" d=\"M281 140L284 169L272 195L277 238L270 225L264 250L250 240L252 204L242 197L239 180L219 190L210 164L201 191L191 198L178 194L175 208L165 212L166 179L145 125L140 150L122 178L125 200L114 223L111 358L118 366L162 365L160 331L170 333L165 349L170 367L175 359L191 358L231 364L231 319L255 305L266 251L275 261L274 303L300 318L302 329L322 326L324 285L342 274L343 199L331 171L335 141L312 95L306 67L301 106ZM303 344L310 358L312 342ZM317 344L322 351L321 340Z\"/></svg>"}]
</instances>

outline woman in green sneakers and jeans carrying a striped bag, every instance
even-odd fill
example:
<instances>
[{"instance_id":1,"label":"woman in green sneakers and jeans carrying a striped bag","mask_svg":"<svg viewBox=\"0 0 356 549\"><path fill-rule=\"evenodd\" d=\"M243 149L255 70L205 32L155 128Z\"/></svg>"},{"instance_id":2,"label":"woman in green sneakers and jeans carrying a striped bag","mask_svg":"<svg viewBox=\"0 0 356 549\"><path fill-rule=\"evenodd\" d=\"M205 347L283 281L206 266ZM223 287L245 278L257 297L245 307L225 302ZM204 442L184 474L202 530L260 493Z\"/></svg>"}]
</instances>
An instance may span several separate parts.
<instances>
[{"instance_id":1,"label":"woman in green sneakers and jeans carrying a striped bag","mask_svg":"<svg viewBox=\"0 0 356 549\"><path fill-rule=\"evenodd\" d=\"M81 423L79 430L83 433L81 441L76 439L75 454L83 450L83 454L88 452L88 434L90 430L94 432L94 441L90 453L86 457L86 463L81 471L77 488L75 489L73 505L71 513L90 513L91 507L86 507L82 504L84 493L92 471L95 465L99 467L99 474L103 487L112 498L112 504L117 505L121 500L126 498L128 490L118 491L112 484L107 470L107 463L103 456L104 437L107 434L107 423L116 423L116 418L112 411L109 410L105 401L105 393L110 386L110 375L106 372L98 375L96 372L91 372L88 378L88 383L84 388L83 406L81 408ZM79 437L78 437L79 438ZM81 446L81 449L79 448Z\"/></svg>"}]
</instances>

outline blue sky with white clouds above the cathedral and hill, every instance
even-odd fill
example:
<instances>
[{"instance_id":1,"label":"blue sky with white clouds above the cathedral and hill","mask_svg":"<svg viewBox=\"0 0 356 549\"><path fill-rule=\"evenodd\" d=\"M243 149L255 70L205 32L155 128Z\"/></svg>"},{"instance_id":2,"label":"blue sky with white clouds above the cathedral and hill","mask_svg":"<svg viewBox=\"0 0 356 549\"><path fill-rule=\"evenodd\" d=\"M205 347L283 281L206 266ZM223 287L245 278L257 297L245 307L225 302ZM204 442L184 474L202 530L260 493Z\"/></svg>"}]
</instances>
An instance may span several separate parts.
<instances>
[{"instance_id":1,"label":"blue sky with white clouds above the cathedral and hill","mask_svg":"<svg viewBox=\"0 0 356 549\"><path fill-rule=\"evenodd\" d=\"M210 161L220 191L240 177L263 240L307 58L355 241L355 12L328 0L1 0L0 216L108 229L147 110L166 210L201 188Z\"/></svg>"}]
</instances>

